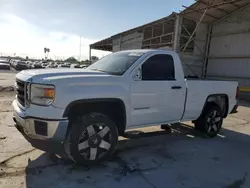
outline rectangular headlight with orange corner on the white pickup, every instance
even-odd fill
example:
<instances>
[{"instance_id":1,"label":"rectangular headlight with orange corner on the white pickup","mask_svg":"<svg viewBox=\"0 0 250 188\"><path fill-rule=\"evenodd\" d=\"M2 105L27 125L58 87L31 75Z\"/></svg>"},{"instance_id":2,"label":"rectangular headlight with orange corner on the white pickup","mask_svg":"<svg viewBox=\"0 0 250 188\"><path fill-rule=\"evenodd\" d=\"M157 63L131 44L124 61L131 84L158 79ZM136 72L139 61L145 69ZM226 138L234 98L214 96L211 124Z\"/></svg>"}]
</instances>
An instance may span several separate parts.
<instances>
[{"instance_id":1,"label":"rectangular headlight with orange corner on the white pickup","mask_svg":"<svg viewBox=\"0 0 250 188\"><path fill-rule=\"evenodd\" d=\"M55 99L55 86L31 84L30 102L37 105L49 106Z\"/></svg>"}]
</instances>

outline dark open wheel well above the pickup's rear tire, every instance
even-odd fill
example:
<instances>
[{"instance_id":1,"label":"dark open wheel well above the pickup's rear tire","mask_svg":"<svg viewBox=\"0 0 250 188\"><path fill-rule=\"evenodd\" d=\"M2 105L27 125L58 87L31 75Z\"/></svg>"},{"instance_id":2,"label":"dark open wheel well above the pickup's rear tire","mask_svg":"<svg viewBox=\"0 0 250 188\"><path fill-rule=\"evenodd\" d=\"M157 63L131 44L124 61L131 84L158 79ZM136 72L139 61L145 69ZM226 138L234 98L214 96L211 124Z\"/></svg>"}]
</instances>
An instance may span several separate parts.
<instances>
[{"instance_id":1,"label":"dark open wheel well above the pickup's rear tire","mask_svg":"<svg viewBox=\"0 0 250 188\"><path fill-rule=\"evenodd\" d=\"M223 112L223 117L226 118L228 114L228 96L226 94L216 94L216 95L210 95L207 97L207 100L204 104L203 111L205 110L205 107L207 104L215 104L219 106Z\"/></svg>"}]
</instances>

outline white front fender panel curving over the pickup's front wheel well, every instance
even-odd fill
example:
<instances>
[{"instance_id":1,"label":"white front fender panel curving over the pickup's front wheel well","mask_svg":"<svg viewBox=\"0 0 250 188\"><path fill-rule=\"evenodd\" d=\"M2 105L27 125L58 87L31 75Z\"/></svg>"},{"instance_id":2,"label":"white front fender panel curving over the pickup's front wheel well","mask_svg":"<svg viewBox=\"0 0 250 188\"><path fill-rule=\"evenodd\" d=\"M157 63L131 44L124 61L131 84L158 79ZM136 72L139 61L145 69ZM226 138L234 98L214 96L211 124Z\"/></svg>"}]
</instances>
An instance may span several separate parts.
<instances>
[{"instance_id":1,"label":"white front fender panel curving over the pickup's front wheel well","mask_svg":"<svg viewBox=\"0 0 250 188\"><path fill-rule=\"evenodd\" d=\"M56 97L53 106L66 109L70 104L77 101L97 101L97 100L120 100L123 102L126 111L126 122L130 122L130 95L129 86L120 83L79 83L55 84ZM64 112L65 112L64 111Z\"/></svg>"}]
</instances>

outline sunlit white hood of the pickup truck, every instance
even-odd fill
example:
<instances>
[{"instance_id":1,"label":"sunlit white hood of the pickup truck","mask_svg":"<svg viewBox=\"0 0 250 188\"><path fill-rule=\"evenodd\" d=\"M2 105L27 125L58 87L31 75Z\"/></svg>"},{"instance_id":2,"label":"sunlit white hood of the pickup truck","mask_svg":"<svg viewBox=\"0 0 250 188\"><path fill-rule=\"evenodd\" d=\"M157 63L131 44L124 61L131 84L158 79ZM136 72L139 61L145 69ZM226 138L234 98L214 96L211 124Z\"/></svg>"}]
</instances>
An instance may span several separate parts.
<instances>
[{"instance_id":1,"label":"sunlit white hood of the pickup truck","mask_svg":"<svg viewBox=\"0 0 250 188\"><path fill-rule=\"evenodd\" d=\"M93 77L93 76L112 76L105 72L86 70L86 69L37 69L37 70L25 70L16 75L17 79L23 81L44 81L55 80L70 77Z\"/></svg>"}]
</instances>

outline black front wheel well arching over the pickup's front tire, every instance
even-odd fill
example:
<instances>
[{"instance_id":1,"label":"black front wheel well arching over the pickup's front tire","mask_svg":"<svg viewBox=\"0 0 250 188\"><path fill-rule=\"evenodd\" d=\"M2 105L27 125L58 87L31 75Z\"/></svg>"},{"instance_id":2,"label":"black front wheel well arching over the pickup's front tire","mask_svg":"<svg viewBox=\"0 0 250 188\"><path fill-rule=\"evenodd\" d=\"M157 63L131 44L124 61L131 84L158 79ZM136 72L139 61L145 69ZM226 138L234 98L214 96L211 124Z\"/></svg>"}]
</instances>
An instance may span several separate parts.
<instances>
[{"instance_id":1,"label":"black front wheel well arching over the pickup's front tire","mask_svg":"<svg viewBox=\"0 0 250 188\"><path fill-rule=\"evenodd\" d=\"M90 99L78 100L70 103L63 117L71 119L77 115L98 112L107 115L117 125L118 132L122 135L126 129L125 105L120 99Z\"/></svg>"}]
</instances>

